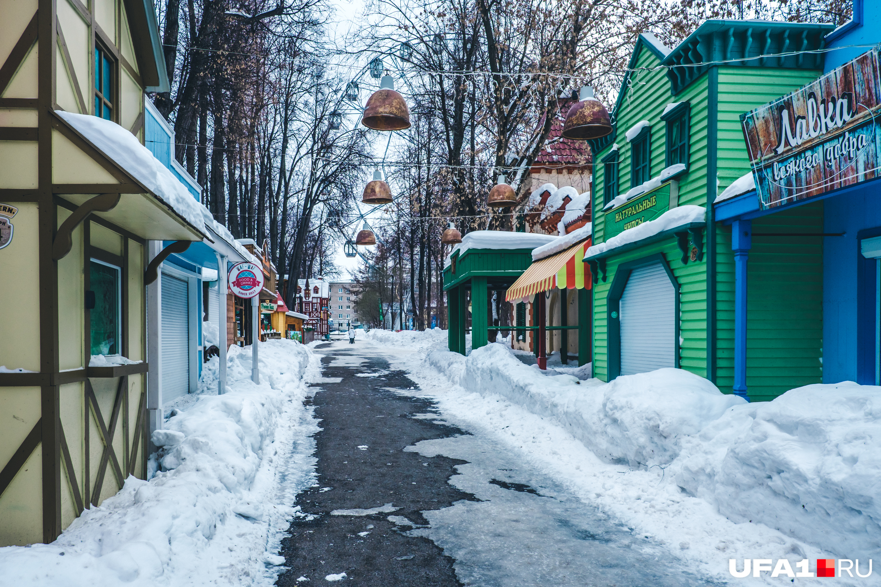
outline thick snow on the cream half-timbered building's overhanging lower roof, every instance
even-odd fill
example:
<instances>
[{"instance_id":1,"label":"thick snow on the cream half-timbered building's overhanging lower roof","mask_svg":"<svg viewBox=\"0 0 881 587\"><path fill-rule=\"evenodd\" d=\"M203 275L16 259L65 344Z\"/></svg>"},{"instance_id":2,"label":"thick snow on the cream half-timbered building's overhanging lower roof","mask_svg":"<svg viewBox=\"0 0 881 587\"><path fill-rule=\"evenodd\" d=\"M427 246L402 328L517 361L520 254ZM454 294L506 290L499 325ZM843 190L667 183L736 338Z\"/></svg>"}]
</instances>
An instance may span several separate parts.
<instances>
[{"instance_id":1,"label":"thick snow on the cream half-timbered building's overhanging lower roof","mask_svg":"<svg viewBox=\"0 0 881 587\"><path fill-rule=\"evenodd\" d=\"M73 114L56 110L64 121L76 128L108 158L144 184L159 200L183 216L198 231L205 231L204 206L193 198L180 180L174 177L137 137L113 121L90 114ZM207 211L207 209L205 209Z\"/></svg>"}]
</instances>

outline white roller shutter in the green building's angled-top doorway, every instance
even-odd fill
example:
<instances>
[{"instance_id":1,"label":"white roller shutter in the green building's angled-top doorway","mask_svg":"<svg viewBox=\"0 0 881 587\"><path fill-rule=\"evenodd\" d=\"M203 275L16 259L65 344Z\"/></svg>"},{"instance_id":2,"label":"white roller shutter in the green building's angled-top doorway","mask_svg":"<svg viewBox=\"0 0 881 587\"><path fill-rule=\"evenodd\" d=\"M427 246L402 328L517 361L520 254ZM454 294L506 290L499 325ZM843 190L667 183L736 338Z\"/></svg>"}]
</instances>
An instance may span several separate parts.
<instances>
[{"instance_id":1,"label":"white roller shutter in the green building's angled-top doorway","mask_svg":"<svg viewBox=\"0 0 881 587\"><path fill-rule=\"evenodd\" d=\"M661 263L633 269L618 314L621 375L676 366L676 288Z\"/></svg>"}]
</instances>

